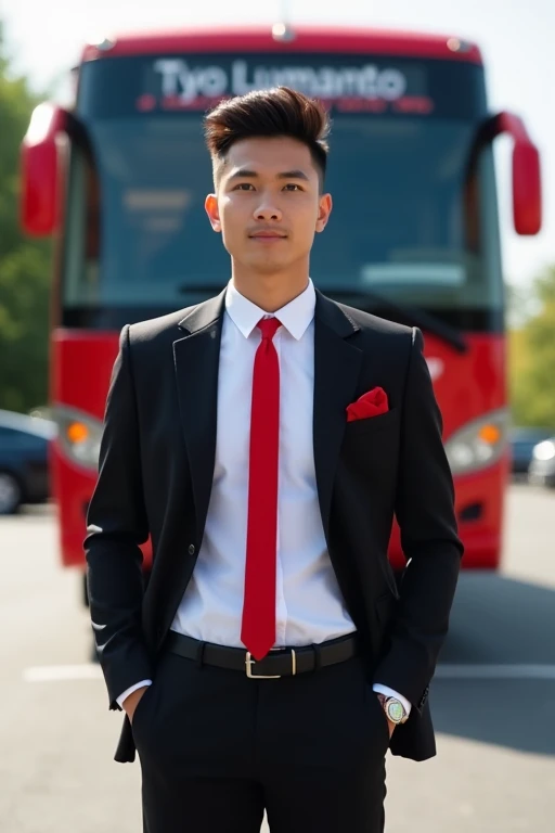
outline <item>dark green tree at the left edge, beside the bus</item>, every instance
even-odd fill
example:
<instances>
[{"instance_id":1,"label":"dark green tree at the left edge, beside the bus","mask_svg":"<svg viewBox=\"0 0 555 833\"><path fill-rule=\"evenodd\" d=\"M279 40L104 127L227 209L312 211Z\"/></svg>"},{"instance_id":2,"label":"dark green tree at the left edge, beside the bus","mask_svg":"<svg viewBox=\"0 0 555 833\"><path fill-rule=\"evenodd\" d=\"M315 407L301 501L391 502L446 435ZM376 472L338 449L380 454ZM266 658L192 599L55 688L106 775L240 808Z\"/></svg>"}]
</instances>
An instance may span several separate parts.
<instances>
[{"instance_id":1,"label":"dark green tree at the left edge, beside the bus","mask_svg":"<svg viewBox=\"0 0 555 833\"><path fill-rule=\"evenodd\" d=\"M0 407L46 401L50 243L18 227L20 145L37 98L10 73L0 25Z\"/></svg>"}]
</instances>

